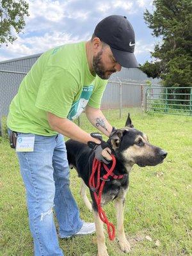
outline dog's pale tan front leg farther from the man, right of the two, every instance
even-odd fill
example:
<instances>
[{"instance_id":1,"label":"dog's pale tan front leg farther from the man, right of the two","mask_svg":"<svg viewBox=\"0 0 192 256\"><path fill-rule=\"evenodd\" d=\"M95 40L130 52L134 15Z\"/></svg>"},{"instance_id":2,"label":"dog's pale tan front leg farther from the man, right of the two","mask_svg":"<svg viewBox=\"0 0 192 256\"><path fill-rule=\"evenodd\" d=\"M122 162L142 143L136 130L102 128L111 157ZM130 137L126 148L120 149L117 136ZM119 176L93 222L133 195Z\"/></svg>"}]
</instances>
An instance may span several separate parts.
<instances>
[{"instance_id":1,"label":"dog's pale tan front leg farther from the man, right of the two","mask_svg":"<svg viewBox=\"0 0 192 256\"><path fill-rule=\"evenodd\" d=\"M131 246L125 237L124 231L124 204L125 198L117 198L115 200L116 223L117 223L117 239L120 249L127 253L131 252Z\"/></svg>"}]
</instances>

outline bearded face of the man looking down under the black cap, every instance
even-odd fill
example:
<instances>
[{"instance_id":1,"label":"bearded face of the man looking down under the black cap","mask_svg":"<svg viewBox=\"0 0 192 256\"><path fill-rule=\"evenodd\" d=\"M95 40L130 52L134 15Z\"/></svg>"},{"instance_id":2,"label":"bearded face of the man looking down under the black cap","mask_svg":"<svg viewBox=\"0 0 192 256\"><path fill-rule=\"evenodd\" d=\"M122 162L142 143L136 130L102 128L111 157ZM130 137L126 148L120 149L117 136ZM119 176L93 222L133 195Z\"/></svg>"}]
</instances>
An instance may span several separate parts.
<instances>
[{"instance_id":1,"label":"bearded face of the man looking down under the black cap","mask_svg":"<svg viewBox=\"0 0 192 256\"><path fill-rule=\"evenodd\" d=\"M93 56L93 70L101 79L109 79L111 74L121 70L121 65L116 62L108 45Z\"/></svg>"}]
</instances>

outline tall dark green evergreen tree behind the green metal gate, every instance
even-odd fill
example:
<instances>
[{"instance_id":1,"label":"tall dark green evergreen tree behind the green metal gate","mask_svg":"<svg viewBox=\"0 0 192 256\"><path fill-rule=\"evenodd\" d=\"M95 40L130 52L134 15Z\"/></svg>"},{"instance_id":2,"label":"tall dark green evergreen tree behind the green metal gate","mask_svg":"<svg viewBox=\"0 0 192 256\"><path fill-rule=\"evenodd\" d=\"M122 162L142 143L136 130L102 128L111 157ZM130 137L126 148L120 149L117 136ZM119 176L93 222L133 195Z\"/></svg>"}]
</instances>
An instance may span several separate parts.
<instances>
[{"instance_id":1,"label":"tall dark green evergreen tree behind the green metal gate","mask_svg":"<svg viewBox=\"0 0 192 256\"><path fill-rule=\"evenodd\" d=\"M164 86L192 86L191 81L191 0L154 0L154 12L144 12L153 36L162 40L150 52L154 61L140 69L148 77L160 77Z\"/></svg>"}]
</instances>

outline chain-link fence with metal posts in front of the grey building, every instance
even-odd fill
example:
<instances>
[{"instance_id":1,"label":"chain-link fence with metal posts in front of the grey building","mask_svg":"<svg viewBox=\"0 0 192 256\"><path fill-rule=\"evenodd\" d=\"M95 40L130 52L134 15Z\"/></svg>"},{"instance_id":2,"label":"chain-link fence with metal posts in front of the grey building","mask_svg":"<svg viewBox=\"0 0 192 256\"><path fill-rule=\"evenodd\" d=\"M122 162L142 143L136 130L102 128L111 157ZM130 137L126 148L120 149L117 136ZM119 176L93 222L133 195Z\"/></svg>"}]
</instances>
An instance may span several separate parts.
<instances>
[{"instance_id":1,"label":"chain-link fence with metal posts in front of the grey building","mask_svg":"<svg viewBox=\"0 0 192 256\"><path fill-rule=\"evenodd\" d=\"M0 70L0 120L3 116L8 115L10 102L16 95L20 82L26 74L26 72ZM144 110L147 88L146 84L122 82L120 79L118 81L110 80L102 97L101 108L119 109L120 118L122 117L123 108L141 108L141 110Z\"/></svg>"}]
</instances>

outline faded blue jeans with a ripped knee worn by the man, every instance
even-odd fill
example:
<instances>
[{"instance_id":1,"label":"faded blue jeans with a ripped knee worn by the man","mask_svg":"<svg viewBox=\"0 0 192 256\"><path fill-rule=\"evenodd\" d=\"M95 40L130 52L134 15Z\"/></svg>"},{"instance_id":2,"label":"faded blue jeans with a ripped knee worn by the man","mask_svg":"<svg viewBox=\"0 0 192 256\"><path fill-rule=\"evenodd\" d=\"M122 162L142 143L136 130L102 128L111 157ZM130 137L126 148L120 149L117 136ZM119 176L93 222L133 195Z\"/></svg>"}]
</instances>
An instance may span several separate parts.
<instances>
[{"instance_id":1,"label":"faded blue jeans with a ripped knee worn by the man","mask_svg":"<svg viewBox=\"0 0 192 256\"><path fill-rule=\"evenodd\" d=\"M22 133L18 132L18 138L20 136ZM69 188L67 150L63 135L35 135L34 151L17 152L17 156L26 186L35 256L63 256L52 207L56 212L60 237L72 236L83 226Z\"/></svg>"}]
</instances>

